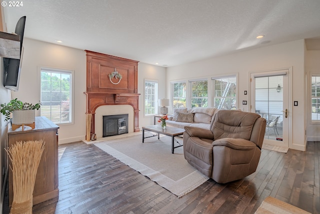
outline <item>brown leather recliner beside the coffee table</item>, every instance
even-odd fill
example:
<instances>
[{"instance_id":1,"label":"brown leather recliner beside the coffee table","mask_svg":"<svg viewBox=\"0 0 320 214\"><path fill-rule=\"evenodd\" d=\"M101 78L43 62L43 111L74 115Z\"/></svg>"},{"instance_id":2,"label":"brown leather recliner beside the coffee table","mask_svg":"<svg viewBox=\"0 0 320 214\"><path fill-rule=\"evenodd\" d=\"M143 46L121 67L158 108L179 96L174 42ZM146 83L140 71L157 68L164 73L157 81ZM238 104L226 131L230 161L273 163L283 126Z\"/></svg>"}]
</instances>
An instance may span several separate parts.
<instances>
[{"instance_id":1,"label":"brown leather recliner beside the coffee table","mask_svg":"<svg viewBox=\"0 0 320 214\"><path fill-rule=\"evenodd\" d=\"M256 170L265 123L255 113L219 110L210 130L184 127L184 158L218 183L241 179Z\"/></svg>"}]
</instances>

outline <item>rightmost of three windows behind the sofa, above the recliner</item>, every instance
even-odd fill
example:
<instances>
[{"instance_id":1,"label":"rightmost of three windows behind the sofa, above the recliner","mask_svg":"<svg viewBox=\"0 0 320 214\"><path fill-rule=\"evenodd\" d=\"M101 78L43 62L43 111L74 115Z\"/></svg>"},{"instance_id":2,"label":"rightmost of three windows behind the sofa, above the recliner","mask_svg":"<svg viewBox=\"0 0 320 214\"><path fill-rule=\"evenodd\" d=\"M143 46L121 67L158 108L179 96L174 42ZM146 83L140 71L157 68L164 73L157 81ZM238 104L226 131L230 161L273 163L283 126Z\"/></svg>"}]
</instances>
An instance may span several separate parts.
<instances>
[{"instance_id":1,"label":"rightmost of three windows behind the sofa, above the recliner","mask_svg":"<svg viewBox=\"0 0 320 214\"><path fill-rule=\"evenodd\" d=\"M212 78L214 107L236 109L236 77Z\"/></svg>"}]
</instances>

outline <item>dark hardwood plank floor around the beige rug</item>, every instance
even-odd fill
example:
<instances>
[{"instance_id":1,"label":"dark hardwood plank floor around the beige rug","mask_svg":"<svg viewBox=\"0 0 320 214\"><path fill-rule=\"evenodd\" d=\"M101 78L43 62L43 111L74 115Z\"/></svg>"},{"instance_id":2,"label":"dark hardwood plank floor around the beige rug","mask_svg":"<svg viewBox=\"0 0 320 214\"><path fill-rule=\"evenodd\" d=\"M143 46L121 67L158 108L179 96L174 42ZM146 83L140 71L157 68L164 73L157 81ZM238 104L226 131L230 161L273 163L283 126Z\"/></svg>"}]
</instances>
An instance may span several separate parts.
<instances>
[{"instance_id":1,"label":"dark hardwood plank floor around the beige rug","mask_svg":"<svg viewBox=\"0 0 320 214\"><path fill-rule=\"evenodd\" d=\"M320 213L320 142L305 152L262 149L255 173L218 184L207 180L177 198L94 145L59 145L59 197L33 206L33 213L254 213L273 196ZM5 197L7 200L7 194ZM3 207L8 213L8 207Z\"/></svg>"}]
</instances>

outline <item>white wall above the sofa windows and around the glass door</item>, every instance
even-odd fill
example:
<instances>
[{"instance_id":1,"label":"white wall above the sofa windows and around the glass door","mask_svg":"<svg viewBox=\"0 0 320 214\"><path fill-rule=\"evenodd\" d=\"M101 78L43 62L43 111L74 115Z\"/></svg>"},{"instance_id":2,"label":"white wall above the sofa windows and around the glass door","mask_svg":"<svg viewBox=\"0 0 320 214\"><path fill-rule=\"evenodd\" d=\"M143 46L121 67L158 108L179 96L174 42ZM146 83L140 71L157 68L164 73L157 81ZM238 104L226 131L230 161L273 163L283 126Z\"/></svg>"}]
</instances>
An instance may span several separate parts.
<instances>
[{"instance_id":1,"label":"white wall above the sofa windows and around the glass door","mask_svg":"<svg viewBox=\"0 0 320 214\"><path fill-rule=\"evenodd\" d=\"M291 141L289 147L305 150L305 109L304 109L304 40L298 40L279 45L267 46L248 51L242 51L222 57L210 58L189 64L167 68L167 83L173 80L195 79L217 75L238 73L238 106L248 111L248 105L242 105L242 100L249 101L249 72L265 71L292 67L292 101L299 105L292 107ZM167 97L170 96L170 84L167 86ZM248 91L244 95L243 91ZM290 105L293 105L290 103Z\"/></svg>"}]
</instances>

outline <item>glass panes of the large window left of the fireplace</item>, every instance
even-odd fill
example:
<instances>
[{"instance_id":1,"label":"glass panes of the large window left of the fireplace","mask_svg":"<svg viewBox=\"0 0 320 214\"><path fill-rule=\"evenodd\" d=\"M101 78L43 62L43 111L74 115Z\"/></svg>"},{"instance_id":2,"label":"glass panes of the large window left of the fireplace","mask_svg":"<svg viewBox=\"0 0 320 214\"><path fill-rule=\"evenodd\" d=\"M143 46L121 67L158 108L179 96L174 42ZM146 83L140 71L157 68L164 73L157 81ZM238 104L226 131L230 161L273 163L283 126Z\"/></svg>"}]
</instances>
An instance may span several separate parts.
<instances>
[{"instance_id":1,"label":"glass panes of the large window left of the fireplace","mask_svg":"<svg viewBox=\"0 0 320 214\"><path fill-rule=\"evenodd\" d=\"M54 123L72 122L72 72L41 69L41 116Z\"/></svg>"}]
</instances>

